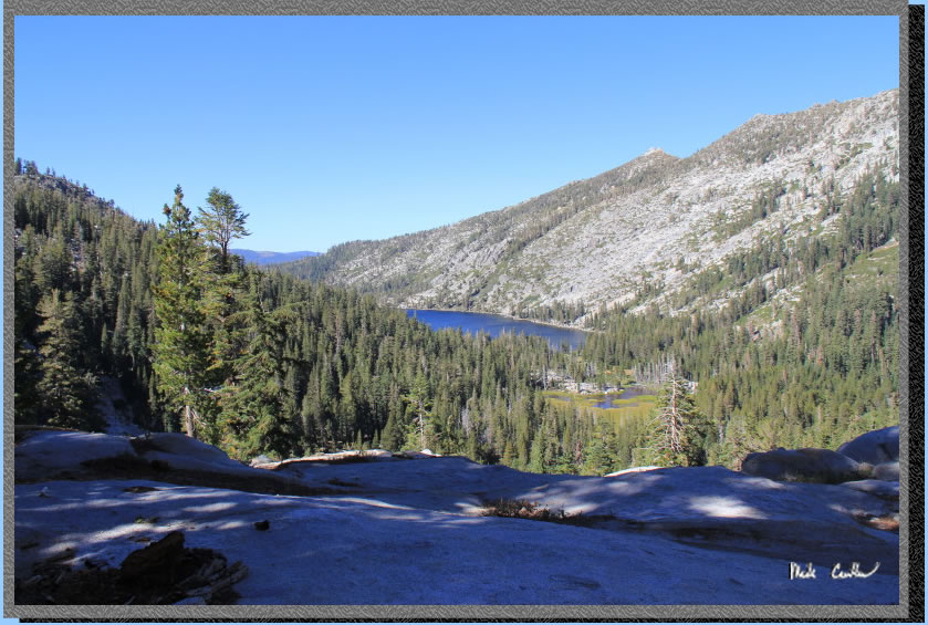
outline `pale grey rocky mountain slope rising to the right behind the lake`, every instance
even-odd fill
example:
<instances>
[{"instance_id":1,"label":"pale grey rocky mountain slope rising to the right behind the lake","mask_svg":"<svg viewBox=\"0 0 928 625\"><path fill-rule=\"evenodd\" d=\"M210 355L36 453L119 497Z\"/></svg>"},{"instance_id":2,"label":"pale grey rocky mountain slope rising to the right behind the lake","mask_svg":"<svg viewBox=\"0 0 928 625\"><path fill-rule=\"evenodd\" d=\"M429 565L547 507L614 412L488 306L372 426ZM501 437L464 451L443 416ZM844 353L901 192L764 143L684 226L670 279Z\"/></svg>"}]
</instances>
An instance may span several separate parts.
<instances>
[{"instance_id":1,"label":"pale grey rocky mountain slope rising to the right behind the lake","mask_svg":"<svg viewBox=\"0 0 928 625\"><path fill-rule=\"evenodd\" d=\"M815 217L832 216L867 174L898 181L898 90L757 115L687 158L650 149L502 210L281 269L410 308L573 306L573 323L604 304L671 309L687 284L767 236L789 246L834 233L837 219Z\"/></svg>"}]
</instances>

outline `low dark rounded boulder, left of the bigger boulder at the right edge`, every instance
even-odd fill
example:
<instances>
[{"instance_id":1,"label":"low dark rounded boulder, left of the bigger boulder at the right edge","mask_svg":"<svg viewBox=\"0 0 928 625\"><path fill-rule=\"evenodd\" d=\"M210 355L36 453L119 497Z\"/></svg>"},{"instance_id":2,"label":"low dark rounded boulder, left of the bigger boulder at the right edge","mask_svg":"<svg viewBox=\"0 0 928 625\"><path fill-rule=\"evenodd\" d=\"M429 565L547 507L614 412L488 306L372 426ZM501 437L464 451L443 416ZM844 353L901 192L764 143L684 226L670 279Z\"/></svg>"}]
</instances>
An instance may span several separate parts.
<instances>
[{"instance_id":1,"label":"low dark rounded boulder, left of the bigger boulder at the right edge","mask_svg":"<svg viewBox=\"0 0 928 625\"><path fill-rule=\"evenodd\" d=\"M748 454L741 471L778 481L841 483L862 477L856 460L828 449L774 449Z\"/></svg>"}]
</instances>

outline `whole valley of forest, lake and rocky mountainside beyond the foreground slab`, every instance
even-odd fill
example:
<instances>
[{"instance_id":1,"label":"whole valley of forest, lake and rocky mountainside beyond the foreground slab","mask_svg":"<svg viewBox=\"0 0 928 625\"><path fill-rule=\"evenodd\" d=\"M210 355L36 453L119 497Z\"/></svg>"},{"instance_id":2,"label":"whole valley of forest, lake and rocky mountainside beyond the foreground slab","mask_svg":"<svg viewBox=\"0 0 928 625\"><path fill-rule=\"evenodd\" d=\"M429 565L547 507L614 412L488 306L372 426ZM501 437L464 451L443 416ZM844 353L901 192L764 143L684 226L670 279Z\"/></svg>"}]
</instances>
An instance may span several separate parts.
<instances>
[{"instance_id":1,"label":"whole valley of forest, lake and rocky mountainside beyond the foreground slab","mask_svg":"<svg viewBox=\"0 0 928 625\"><path fill-rule=\"evenodd\" d=\"M655 460L642 450L654 449L651 413L676 378L698 415L692 461L737 468L771 446L833 448L898 420L896 97L757 117L687 159L653 150L502 211L267 271L194 242L202 227L192 218L173 231L137 222L86 186L18 163L17 423L101 427L94 397L100 381L116 379L131 420L185 429L244 460L418 447L520 470L605 475ZM856 147L845 154L845 144ZM183 216L183 201L178 187L166 215ZM623 249L584 243L596 267L584 265L567 242L587 235L561 235L585 228ZM505 259L491 251L493 232L514 246ZM165 243L171 237L175 248ZM186 249L181 237L194 238ZM432 287L421 273L396 273L396 259L411 262L415 252L416 267L447 278L455 267L421 256L444 250L472 264L475 280L483 275L477 257L456 257L439 241L493 257L491 282L510 280L507 268L532 254L545 259L548 277L571 265L575 296L535 290L532 306L515 310L487 299L502 282L486 282L477 300L421 300ZM200 263L195 283L165 264L183 254ZM387 272L377 288L345 287L342 268L367 262ZM629 282L634 268L640 274ZM606 278L608 300L590 290L590 280ZM170 283L186 295L159 290ZM455 310L395 308L406 301ZM164 306L199 320L199 343L186 354L161 351L175 336L159 321ZM476 312L493 309L502 315ZM178 366L199 379L194 404L178 403L188 384ZM81 390L50 413L37 389L65 378ZM262 387L262 378L275 382ZM655 389L654 400L603 410L549 395L634 383ZM243 406L252 406L248 418Z\"/></svg>"}]
</instances>

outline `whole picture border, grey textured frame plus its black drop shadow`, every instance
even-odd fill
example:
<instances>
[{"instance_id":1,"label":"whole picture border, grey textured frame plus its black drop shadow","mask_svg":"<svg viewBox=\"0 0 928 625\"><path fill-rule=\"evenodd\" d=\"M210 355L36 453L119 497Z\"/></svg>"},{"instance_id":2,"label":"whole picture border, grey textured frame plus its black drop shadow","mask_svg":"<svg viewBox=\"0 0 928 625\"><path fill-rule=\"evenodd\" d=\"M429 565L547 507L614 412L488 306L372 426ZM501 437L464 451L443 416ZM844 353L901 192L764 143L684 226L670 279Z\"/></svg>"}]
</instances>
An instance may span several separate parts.
<instances>
[{"instance_id":1,"label":"whole picture border, grey textured frame plus its black drop shadow","mask_svg":"<svg viewBox=\"0 0 928 625\"><path fill-rule=\"evenodd\" d=\"M17 15L899 15L900 215L900 603L889 606L781 605L299 605L17 606L13 604L13 41ZM823 70L825 71L825 70ZM900 0L696 2L669 0L7 0L3 4L3 615L22 621L924 621L925 415L925 7ZM909 143L911 142L911 144ZM910 147L910 145L913 147ZM915 179L909 175L915 171ZM906 346L909 348L906 350ZM910 415L914 415L915 420ZM907 517L908 513L908 517Z\"/></svg>"}]
</instances>

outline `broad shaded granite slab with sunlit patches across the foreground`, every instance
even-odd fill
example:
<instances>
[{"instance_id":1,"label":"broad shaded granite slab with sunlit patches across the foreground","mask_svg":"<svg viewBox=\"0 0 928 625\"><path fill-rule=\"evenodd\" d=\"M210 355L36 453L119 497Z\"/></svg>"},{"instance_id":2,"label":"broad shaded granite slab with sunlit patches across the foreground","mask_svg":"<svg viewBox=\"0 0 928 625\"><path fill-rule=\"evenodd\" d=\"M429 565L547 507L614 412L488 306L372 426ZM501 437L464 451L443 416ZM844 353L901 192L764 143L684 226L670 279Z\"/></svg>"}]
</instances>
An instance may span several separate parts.
<instances>
[{"instance_id":1,"label":"broad shaded granite slab with sunlit patches across the foreground","mask_svg":"<svg viewBox=\"0 0 928 625\"><path fill-rule=\"evenodd\" d=\"M139 544L184 532L188 544L247 564L234 585L241 604L898 603L893 501L866 489L720 467L532 475L455 457L249 470L341 493L147 478L18 483L15 579L29 581L49 559L119 569ZM530 519L567 522L481 515L505 499L554 512ZM790 562L811 562L818 574L791 581ZM868 579L831 577L835 564L853 562L879 566Z\"/></svg>"}]
</instances>

